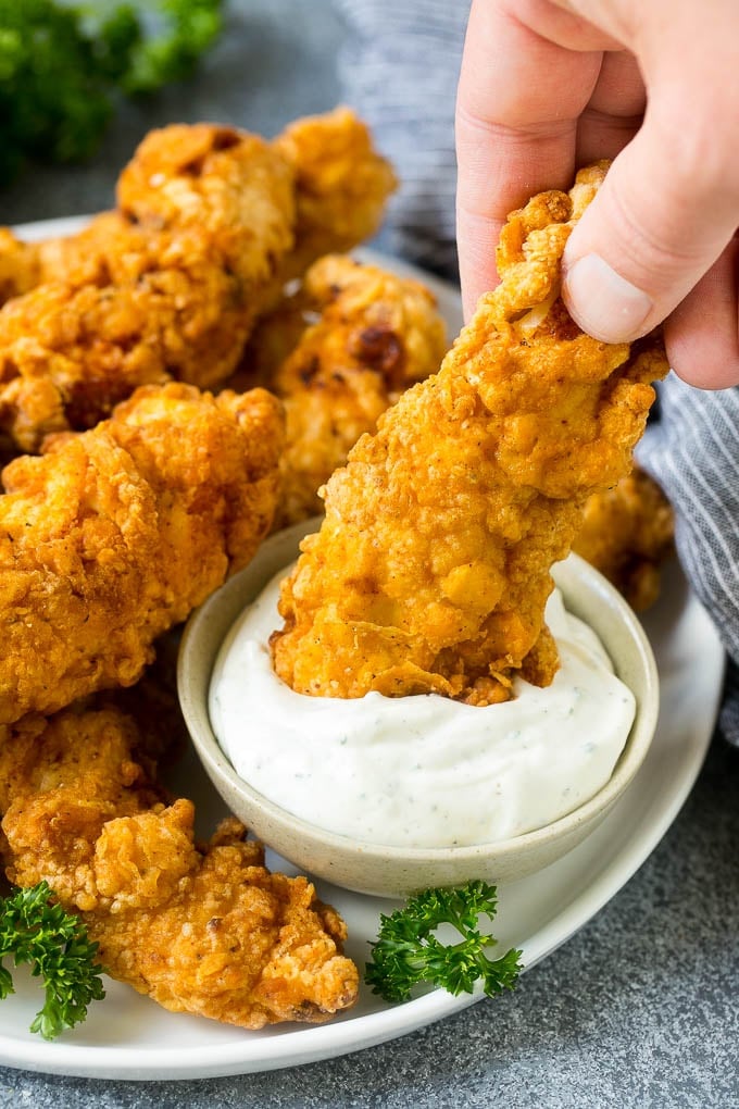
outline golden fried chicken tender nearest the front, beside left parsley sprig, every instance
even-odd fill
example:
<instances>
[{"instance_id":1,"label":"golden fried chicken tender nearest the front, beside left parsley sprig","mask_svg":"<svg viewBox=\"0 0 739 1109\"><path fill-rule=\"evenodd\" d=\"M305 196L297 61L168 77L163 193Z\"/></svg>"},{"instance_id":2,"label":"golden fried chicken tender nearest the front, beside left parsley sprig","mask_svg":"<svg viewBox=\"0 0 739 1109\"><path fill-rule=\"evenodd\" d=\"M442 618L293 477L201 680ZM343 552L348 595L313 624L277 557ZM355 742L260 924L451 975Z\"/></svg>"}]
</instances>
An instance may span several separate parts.
<instances>
[{"instance_id":1,"label":"golden fried chicken tender nearest the front, beside left parsley sprig","mask_svg":"<svg viewBox=\"0 0 739 1109\"><path fill-rule=\"evenodd\" d=\"M0 729L2 855L81 913L114 977L167 1009L243 1028L320 1022L357 998L346 926L305 877L265 868L234 818L205 845L193 805L165 803L114 709Z\"/></svg>"}]
</instances>

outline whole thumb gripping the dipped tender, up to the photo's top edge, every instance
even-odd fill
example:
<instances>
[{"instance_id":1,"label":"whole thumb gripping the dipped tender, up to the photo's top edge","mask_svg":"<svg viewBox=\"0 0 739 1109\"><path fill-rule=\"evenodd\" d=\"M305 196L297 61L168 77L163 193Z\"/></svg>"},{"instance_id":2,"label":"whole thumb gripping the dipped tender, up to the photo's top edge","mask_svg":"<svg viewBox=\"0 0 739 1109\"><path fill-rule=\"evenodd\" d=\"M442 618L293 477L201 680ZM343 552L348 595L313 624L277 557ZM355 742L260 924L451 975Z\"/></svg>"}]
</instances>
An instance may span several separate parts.
<instances>
[{"instance_id":1,"label":"whole thumb gripping the dipped tender, up to the photo's top edge","mask_svg":"<svg viewBox=\"0 0 739 1109\"><path fill-rule=\"evenodd\" d=\"M616 157L563 260L571 314L605 342L636 338L665 319L739 224L732 139L739 9L723 0L709 6L720 20L696 22L695 3L686 0L673 0L668 21L655 18L656 9L665 14L661 0L634 16L648 94L644 124Z\"/></svg>"}]
</instances>

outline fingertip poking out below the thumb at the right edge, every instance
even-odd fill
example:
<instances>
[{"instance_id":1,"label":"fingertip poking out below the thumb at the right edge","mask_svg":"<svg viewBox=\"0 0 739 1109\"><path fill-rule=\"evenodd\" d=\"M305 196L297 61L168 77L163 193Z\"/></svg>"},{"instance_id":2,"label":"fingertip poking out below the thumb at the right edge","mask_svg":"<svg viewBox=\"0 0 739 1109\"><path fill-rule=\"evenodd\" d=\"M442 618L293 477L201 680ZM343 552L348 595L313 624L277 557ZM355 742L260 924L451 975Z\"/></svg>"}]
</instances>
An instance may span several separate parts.
<instances>
[{"instance_id":1,"label":"fingertip poking out below the thumb at the right edge","mask_svg":"<svg viewBox=\"0 0 739 1109\"><path fill-rule=\"evenodd\" d=\"M739 385L739 240L665 321L665 346L675 373L689 385Z\"/></svg>"}]
</instances>

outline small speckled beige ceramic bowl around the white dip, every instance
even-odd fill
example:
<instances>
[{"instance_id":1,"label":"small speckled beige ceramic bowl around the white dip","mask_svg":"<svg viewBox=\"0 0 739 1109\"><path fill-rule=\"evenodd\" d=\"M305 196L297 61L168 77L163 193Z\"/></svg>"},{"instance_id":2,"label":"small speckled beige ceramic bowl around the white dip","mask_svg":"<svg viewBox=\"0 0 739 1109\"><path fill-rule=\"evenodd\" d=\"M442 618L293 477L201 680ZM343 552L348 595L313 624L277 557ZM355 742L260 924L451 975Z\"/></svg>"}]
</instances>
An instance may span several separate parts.
<instances>
[{"instance_id":1,"label":"small speckled beige ceramic bowl around the white dip","mask_svg":"<svg viewBox=\"0 0 739 1109\"><path fill-rule=\"evenodd\" d=\"M407 896L470 878L513 882L548 866L593 832L617 803L649 749L657 723L657 668L637 617L620 594L572 554L554 569L566 607L601 637L616 673L633 690L636 719L606 785L591 801L535 832L468 847L378 846L325 832L252 788L220 750L208 718L211 674L227 632L243 609L297 556L318 521L268 539L254 561L191 618L179 650L177 683L185 721L206 773L224 801L260 840L307 874L366 894Z\"/></svg>"}]
</instances>

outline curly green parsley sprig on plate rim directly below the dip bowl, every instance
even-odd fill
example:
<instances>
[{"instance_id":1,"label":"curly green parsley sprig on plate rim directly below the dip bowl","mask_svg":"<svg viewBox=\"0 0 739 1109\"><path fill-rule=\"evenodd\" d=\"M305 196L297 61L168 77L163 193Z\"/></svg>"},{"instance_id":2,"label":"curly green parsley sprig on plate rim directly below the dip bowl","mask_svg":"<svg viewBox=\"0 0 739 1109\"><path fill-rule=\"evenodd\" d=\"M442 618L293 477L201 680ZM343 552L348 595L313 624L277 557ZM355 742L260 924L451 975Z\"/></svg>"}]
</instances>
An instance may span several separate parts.
<instances>
[{"instance_id":1,"label":"curly green parsley sprig on plate rim directly below the dip bowl","mask_svg":"<svg viewBox=\"0 0 739 1109\"><path fill-rule=\"evenodd\" d=\"M408 1000L413 986L422 981L463 994L472 993L481 979L489 997L513 989L522 953L511 949L491 959L487 950L497 940L479 926L480 917L492 920L496 908L495 886L481 881L417 894L390 916L380 915L365 980L387 1001ZM444 944L434 935L444 924L458 930L459 943Z\"/></svg>"}]
</instances>

